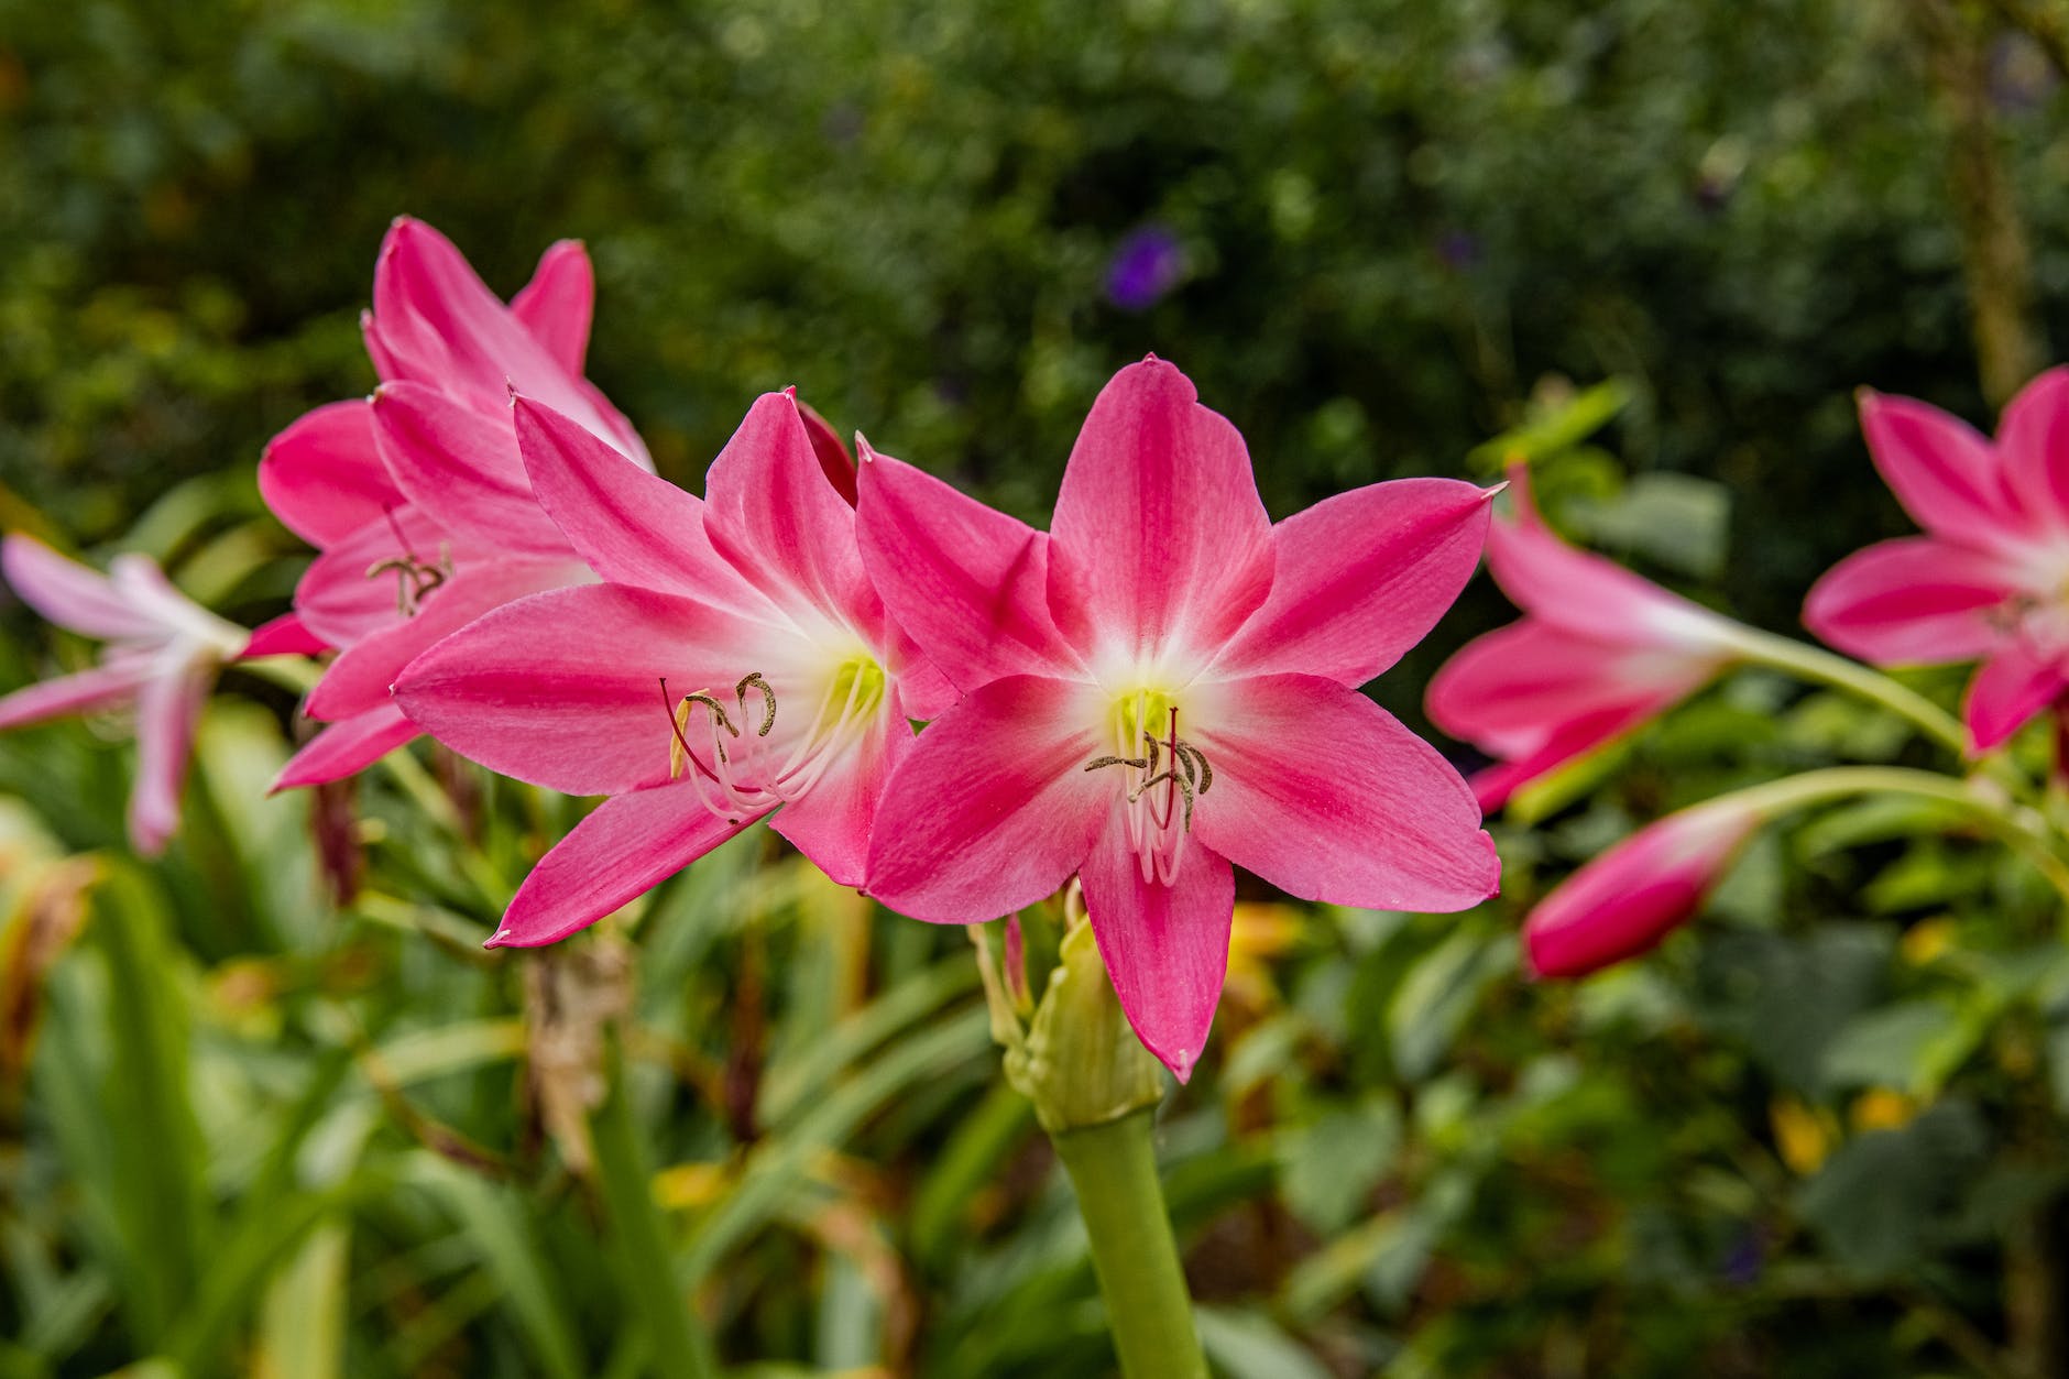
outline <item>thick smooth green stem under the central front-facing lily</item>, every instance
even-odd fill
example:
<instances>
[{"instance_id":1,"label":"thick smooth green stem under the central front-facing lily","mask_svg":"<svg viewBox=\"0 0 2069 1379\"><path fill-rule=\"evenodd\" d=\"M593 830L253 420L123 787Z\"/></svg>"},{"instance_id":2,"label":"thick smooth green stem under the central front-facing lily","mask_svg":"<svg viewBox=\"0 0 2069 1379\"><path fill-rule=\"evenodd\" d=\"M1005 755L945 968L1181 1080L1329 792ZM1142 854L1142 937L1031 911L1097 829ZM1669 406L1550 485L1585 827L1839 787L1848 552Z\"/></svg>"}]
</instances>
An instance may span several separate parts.
<instances>
[{"instance_id":1,"label":"thick smooth green stem under the central front-facing lily","mask_svg":"<svg viewBox=\"0 0 2069 1379\"><path fill-rule=\"evenodd\" d=\"M1078 1189L1092 1269L1126 1379L1206 1379L1150 1147L1155 1112L1051 1135Z\"/></svg>"}]
</instances>

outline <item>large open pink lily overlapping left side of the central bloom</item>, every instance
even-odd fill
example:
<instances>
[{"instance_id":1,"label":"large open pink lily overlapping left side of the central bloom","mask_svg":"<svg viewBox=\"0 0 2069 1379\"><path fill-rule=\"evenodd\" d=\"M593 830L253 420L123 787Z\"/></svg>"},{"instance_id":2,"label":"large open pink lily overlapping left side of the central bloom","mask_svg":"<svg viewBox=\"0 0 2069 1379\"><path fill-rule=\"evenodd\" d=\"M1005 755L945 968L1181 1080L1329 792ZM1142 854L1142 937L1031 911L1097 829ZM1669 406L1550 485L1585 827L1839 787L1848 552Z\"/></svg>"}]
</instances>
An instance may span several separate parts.
<instances>
[{"instance_id":1,"label":"large open pink lily overlapping left side of the central bloom","mask_svg":"<svg viewBox=\"0 0 2069 1379\"><path fill-rule=\"evenodd\" d=\"M759 818L859 884L906 716L952 692L886 617L797 400L755 402L708 501L530 398L515 424L538 501L604 584L488 613L412 661L395 702L490 770L610 799L488 946L565 938Z\"/></svg>"}]
</instances>

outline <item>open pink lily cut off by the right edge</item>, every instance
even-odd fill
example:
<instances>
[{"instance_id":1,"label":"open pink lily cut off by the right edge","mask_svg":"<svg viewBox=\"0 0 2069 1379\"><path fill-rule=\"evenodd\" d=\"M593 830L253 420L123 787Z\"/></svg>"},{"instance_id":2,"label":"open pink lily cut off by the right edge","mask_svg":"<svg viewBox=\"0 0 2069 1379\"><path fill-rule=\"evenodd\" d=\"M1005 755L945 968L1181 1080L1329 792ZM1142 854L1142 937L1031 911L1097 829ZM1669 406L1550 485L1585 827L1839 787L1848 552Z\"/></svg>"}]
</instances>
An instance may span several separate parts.
<instances>
[{"instance_id":1,"label":"open pink lily cut off by the right edge","mask_svg":"<svg viewBox=\"0 0 2069 1379\"><path fill-rule=\"evenodd\" d=\"M1926 534L1833 565L1804 625L1881 667L1982 661L1961 712L1972 750L1988 752L2069 689L2069 369L2019 389L1995 443L1872 391L1860 393L1860 429Z\"/></svg>"}]
</instances>

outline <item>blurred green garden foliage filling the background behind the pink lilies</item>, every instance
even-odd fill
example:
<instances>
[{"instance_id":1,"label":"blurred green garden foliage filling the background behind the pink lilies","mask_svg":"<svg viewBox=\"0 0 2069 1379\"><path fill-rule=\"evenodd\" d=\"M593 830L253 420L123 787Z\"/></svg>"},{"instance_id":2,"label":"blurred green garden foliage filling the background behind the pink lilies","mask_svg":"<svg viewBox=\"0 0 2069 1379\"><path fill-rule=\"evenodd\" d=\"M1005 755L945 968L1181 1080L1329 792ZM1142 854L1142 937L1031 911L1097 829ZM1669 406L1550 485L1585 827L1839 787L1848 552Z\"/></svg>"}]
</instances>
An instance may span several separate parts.
<instances>
[{"instance_id":1,"label":"blurred green garden foliage filling the background behind the pink lilies","mask_svg":"<svg viewBox=\"0 0 2069 1379\"><path fill-rule=\"evenodd\" d=\"M252 464L372 383L356 313L410 211L505 292L586 238L592 375L691 485L797 383L1041 520L1157 350L1277 514L1523 437L1566 530L1792 625L1903 526L1852 389L1980 420L1899 10L0 0L0 524L275 611L304 553ZM1999 68L2059 315L2063 97L2017 39ZM1179 267L1132 311L1144 228ZM1564 379L1616 381L1606 435L1548 422ZM1477 590L1382 698L1502 617ZM8 613L0 685L48 648ZM577 805L424 752L265 799L292 694L228 689L157 868L120 857L120 733L0 739L0 1375L672 1375L670 1294L766 1379L1109 1362L960 934L749 837L486 957ZM1523 907L1635 822L1914 758L1949 766L1738 675L1504 826L1481 911L1246 892L1163 1122L1217 1367L2015 1373L2069 1110L2069 955L2019 863L1829 810L1657 959L1517 975ZM364 853L341 909L312 834Z\"/></svg>"}]
</instances>

